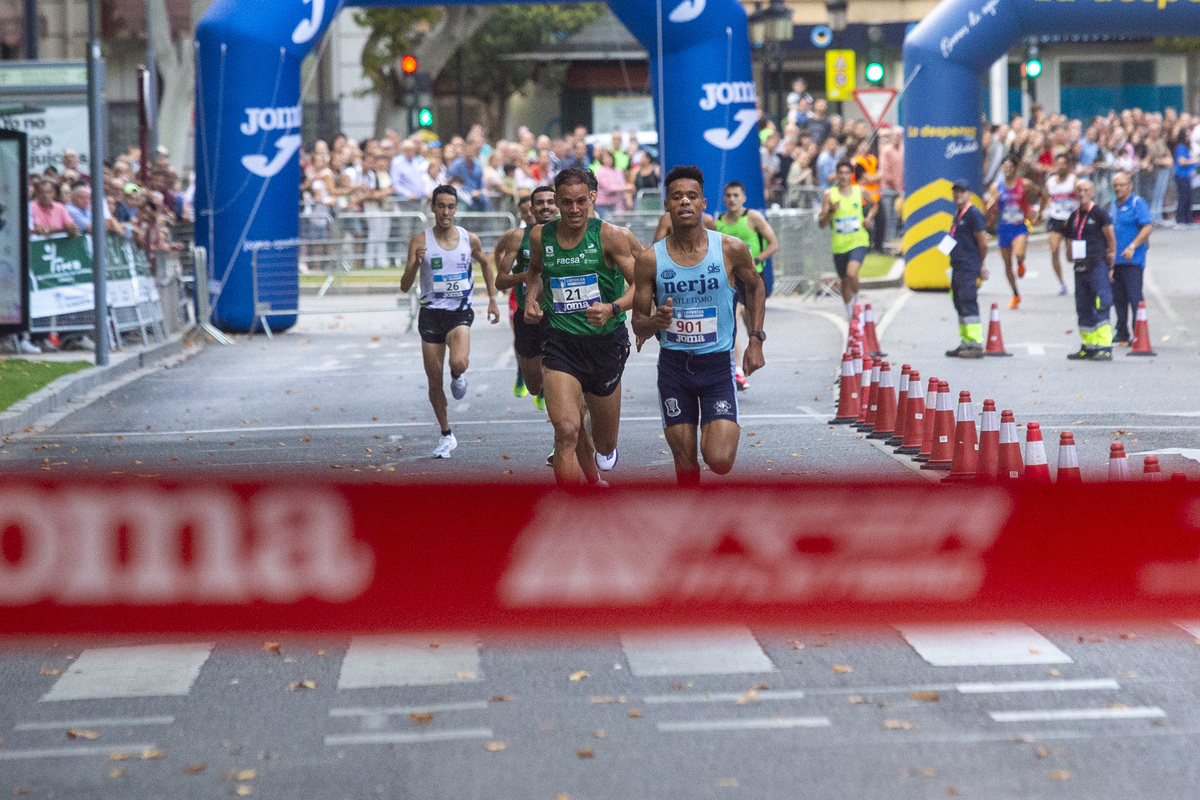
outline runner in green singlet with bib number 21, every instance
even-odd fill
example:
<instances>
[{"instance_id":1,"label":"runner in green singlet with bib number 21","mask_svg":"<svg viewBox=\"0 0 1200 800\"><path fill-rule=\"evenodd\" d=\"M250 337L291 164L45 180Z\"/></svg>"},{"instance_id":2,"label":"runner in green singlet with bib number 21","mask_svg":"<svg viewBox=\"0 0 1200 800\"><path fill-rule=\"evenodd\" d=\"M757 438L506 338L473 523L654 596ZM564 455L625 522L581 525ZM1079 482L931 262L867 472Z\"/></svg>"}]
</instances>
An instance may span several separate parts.
<instances>
[{"instance_id":1,"label":"runner in green singlet with bib number 21","mask_svg":"<svg viewBox=\"0 0 1200 800\"><path fill-rule=\"evenodd\" d=\"M629 357L634 257L624 231L592 218L594 203L584 170L564 169L554 179L562 218L529 234L526 321L536 324L544 314L550 320L542 349L546 410L554 426L554 477L568 486L581 471L596 483L596 470L617 463L620 377ZM571 452L574 459L566 457Z\"/></svg>"}]
</instances>

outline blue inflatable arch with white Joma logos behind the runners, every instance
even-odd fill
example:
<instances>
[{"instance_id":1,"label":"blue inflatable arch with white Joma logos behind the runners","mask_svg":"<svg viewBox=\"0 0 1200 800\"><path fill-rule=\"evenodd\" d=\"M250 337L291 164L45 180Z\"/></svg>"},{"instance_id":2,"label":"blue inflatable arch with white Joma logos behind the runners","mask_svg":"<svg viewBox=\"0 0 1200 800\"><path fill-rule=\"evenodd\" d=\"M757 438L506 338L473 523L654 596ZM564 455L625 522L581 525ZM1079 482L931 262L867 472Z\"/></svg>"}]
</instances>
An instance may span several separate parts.
<instances>
[{"instance_id":1,"label":"blue inflatable arch with white Joma logos behind the runners","mask_svg":"<svg viewBox=\"0 0 1200 800\"><path fill-rule=\"evenodd\" d=\"M463 0L468 4L486 0ZM196 240L209 251L214 321L254 327L251 253L266 249L260 300L296 308L300 62L343 5L419 0L216 0L196 31ZM649 52L661 163L704 170L709 209L740 180L762 197L746 13L737 0L608 0ZM266 261L268 257L263 257ZM268 317L272 330L294 315Z\"/></svg>"}]
</instances>

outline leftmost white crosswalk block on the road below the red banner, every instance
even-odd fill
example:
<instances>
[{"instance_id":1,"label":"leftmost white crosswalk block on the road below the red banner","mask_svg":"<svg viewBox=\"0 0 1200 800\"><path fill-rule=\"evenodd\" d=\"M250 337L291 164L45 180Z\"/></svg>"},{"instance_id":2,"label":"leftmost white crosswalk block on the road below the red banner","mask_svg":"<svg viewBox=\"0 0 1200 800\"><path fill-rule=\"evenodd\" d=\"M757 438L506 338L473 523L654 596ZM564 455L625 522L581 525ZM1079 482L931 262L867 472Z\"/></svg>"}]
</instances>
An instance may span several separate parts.
<instances>
[{"instance_id":1,"label":"leftmost white crosswalk block on the road below the red banner","mask_svg":"<svg viewBox=\"0 0 1200 800\"><path fill-rule=\"evenodd\" d=\"M186 696L214 646L208 643L88 649L42 700Z\"/></svg>"}]
</instances>

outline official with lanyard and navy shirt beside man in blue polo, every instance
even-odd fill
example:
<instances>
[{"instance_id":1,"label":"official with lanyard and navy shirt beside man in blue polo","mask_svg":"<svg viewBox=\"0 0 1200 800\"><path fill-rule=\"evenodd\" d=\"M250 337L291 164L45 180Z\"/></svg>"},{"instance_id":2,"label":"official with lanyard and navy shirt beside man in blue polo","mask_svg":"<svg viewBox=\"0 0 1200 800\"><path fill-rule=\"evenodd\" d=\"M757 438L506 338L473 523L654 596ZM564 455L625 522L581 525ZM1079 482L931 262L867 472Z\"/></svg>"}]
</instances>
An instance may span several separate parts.
<instances>
[{"instance_id":1,"label":"official with lanyard and navy shirt beside man in blue polo","mask_svg":"<svg viewBox=\"0 0 1200 800\"><path fill-rule=\"evenodd\" d=\"M1079 207L1067 219L1067 254L1075 265L1075 313L1082 347L1072 361L1112 360L1112 284L1109 271L1116 261L1117 240L1112 222L1096 205L1092 181L1075 185Z\"/></svg>"}]
</instances>

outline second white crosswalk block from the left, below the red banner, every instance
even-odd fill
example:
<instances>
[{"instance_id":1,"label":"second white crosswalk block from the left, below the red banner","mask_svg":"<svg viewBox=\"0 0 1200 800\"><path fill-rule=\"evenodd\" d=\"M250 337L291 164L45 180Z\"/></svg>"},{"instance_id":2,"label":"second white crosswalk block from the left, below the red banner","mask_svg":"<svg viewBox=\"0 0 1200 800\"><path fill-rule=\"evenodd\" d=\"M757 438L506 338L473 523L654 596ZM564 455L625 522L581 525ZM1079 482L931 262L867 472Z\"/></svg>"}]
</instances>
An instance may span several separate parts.
<instances>
[{"instance_id":1,"label":"second white crosswalk block from the left, below the red banner","mask_svg":"<svg viewBox=\"0 0 1200 800\"><path fill-rule=\"evenodd\" d=\"M479 645L473 638L358 636L342 660L337 688L434 686L480 678Z\"/></svg>"}]
</instances>

